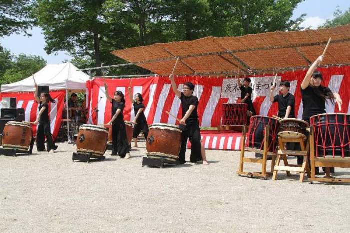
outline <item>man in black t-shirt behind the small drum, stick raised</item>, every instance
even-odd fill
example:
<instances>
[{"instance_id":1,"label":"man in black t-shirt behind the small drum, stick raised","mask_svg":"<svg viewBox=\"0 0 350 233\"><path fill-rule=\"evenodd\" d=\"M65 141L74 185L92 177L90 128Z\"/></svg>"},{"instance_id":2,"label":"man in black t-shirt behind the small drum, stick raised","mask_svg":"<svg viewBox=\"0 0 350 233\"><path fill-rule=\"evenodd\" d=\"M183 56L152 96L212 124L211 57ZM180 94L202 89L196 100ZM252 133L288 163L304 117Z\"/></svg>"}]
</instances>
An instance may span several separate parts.
<instances>
[{"instance_id":1,"label":"man in black t-shirt behind the small drum, stick raised","mask_svg":"<svg viewBox=\"0 0 350 233\"><path fill-rule=\"evenodd\" d=\"M295 118L295 97L289 92L290 82L285 80L280 82L279 91L281 94L273 96L275 84L271 87L270 101L278 102L278 117Z\"/></svg>"}]
</instances>

